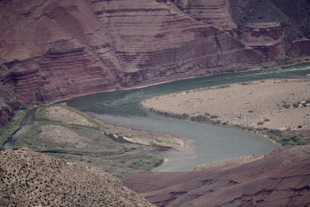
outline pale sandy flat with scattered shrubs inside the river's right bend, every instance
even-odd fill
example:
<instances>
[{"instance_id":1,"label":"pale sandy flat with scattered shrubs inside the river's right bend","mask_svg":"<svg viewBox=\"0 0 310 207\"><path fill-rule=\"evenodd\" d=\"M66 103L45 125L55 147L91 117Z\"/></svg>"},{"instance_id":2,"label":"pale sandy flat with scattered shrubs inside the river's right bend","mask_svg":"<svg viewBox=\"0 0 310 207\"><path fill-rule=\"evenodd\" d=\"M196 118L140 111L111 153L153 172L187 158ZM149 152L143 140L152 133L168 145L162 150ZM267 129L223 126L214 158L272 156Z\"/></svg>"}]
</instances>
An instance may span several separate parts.
<instances>
[{"instance_id":1,"label":"pale sandy flat with scattered shrubs inside the river's right bend","mask_svg":"<svg viewBox=\"0 0 310 207\"><path fill-rule=\"evenodd\" d=\"M310 128L310 105L284 108L283 102L303 103L310 99L310 79L268 79L231 84L229 87L203 88L147 99L145 108L170 113L217 115L221 124L269 129ZM248 112L253 111L253 112ZM209 116L210 117L210 116ZM265 121L269 119L270 121ZM258 125L258 122L264 122Z\"/></svg>"}]
</instances>

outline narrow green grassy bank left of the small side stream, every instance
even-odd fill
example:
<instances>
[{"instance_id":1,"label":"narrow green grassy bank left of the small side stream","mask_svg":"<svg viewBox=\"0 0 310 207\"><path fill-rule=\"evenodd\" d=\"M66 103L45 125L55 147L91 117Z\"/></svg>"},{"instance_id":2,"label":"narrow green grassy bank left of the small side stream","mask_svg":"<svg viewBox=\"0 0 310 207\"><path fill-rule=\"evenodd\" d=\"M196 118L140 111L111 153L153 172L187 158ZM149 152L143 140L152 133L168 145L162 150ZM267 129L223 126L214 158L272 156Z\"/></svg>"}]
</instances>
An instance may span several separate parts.
<instances>
[{"instance_id":1,"label":"narrow green grassy bank left of the small side stream","mask_svg":"<svg viewBox=\"0 0 310 207\"><path fill-rule=\"evenodd\" d=\"M7 140L20 129L20 124L26 115L25 111L18 111L12 118L11 122L0 128L0 149L4 149L3 145Z\"/></svg>"}]
</instances>

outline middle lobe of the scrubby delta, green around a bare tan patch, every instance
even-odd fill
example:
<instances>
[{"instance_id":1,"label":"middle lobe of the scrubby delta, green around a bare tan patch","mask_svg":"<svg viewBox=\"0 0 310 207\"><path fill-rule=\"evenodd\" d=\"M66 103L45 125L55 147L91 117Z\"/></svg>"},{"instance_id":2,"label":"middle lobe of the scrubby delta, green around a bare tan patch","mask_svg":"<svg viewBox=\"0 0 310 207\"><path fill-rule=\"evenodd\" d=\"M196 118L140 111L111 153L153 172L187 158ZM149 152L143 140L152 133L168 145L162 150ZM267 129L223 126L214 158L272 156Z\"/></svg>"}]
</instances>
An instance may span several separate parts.
<instances>
[{"instance_id":1,"label":"middle lobe of the scrubby delta, green around a bare tan patch","mask_svg":"<svg viewBox=\"0 0 310 207\"><path fill-rule=\"evenodd\" d=\"M37 122L22 134L14 148L22 147L29 147L37 152L93 156L117 155L130 151L127 146L114 142L96 129L48 121Z\"/></svg>"}]
</instances>

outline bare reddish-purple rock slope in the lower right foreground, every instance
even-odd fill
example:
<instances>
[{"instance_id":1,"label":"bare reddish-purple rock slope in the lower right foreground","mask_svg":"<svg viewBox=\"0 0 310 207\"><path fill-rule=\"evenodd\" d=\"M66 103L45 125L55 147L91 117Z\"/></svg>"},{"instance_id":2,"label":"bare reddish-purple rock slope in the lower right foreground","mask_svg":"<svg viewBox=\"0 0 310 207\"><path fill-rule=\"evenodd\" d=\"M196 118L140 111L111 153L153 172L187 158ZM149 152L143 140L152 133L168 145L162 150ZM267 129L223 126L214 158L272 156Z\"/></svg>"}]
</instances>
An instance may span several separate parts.
<instances>
[{"instance_id":1,"label":"bare reddish-purple rock slope in the lower right foreground","mask_svg":"<svg viewBox=\"0 0 310 207\"><path fill-rule=\"evenodd\" d=\"M309 161L310 146L289 146L244 164L225 161L189 172L140 172L123 183L157 206L307 206Z\"/></svg>"}]
</instances>

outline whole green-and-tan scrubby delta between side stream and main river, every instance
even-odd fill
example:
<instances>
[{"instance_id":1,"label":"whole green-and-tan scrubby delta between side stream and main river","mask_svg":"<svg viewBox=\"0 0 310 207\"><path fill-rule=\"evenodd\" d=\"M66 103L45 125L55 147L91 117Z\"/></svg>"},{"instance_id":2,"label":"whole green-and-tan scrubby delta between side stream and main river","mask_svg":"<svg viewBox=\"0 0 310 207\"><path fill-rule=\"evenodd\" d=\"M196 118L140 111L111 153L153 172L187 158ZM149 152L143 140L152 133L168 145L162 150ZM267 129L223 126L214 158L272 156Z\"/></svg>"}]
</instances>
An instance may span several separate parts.
<instances>
[{"instance_id":1,"label":"whole green-and-tan scrubby delta between side stream and main river","mask_svg":"<svg viewBox=\"0 0 310 207\"><path fill-rule=\"evenodd\" d=\"M40 108L35 119L37 122L15 142L15 149L28 147L64 162L99 167L117 179L124 179L137 171L151 170L164 161L157 155L123 154L137 147L114 142L101 132L107 129L103 123L65 104Z\"/></svg>"}]
</instances>

